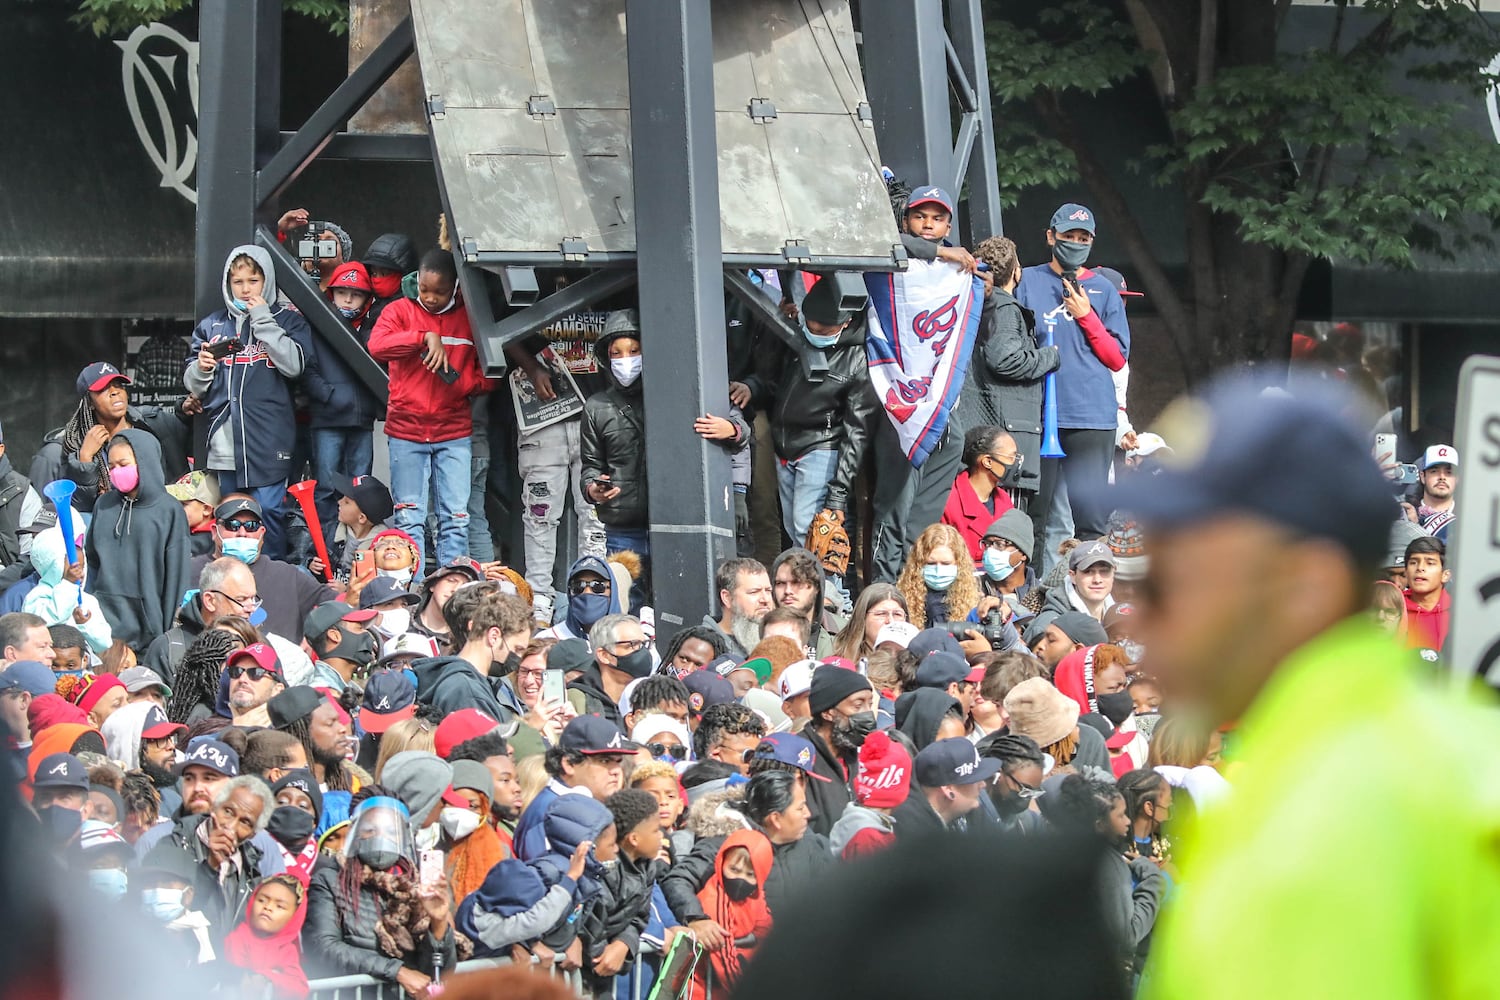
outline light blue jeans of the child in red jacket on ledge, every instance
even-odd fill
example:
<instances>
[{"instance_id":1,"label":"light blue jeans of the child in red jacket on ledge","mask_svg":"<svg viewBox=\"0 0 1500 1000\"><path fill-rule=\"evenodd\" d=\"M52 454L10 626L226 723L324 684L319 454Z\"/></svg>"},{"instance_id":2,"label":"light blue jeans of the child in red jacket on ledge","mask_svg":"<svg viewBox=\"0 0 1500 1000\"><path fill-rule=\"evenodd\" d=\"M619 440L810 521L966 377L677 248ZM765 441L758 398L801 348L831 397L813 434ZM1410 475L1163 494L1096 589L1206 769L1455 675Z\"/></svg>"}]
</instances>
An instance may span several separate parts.
<instances>
[{"instance_id":1,"label":"light blue jeans of the child in red jacket on ledge","mask_svg":"<svg viewBox=\"0 0 1500 1000\"><path fill-rule=\"evenodd\" d=\"M387 438L390 496L396 502L393 528L411 535L426 550L428 504L438 516L434 546L438 565L468 558L468 501L471 492L470 439L423 442Z\"/></svg>"}]
</instances>

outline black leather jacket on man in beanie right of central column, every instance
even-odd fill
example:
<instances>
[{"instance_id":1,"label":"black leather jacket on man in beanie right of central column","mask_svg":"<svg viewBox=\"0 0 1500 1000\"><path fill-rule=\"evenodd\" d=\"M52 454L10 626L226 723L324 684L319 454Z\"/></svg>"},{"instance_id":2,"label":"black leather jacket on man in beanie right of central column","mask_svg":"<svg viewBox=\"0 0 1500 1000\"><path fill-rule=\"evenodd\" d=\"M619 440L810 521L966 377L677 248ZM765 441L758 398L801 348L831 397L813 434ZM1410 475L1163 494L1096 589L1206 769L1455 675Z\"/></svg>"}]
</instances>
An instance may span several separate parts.
<instances>
[{"instance_id":1,"label":"black leather jacket on man in beanie right of central column","mask_svg":"<svg viewBox=\"0 0 1500 1000\"><path fill-rule=\"evenodd\" d=\"M872 421L880 409L870 388L864 337L866 321L861 315L844 328L838 343L824 351L828 375L819 382L802 375L796 352L780 340L774 345L782 357L780 366L768 369L780 370L780 376L774 382L759 373L746 376L753 405L768 409L771 415L771 442L777 457L790 462L808 451L838 453L825 501L830 510L848 507L849 486L860 471Z\"/></svg>"}]
</instances>

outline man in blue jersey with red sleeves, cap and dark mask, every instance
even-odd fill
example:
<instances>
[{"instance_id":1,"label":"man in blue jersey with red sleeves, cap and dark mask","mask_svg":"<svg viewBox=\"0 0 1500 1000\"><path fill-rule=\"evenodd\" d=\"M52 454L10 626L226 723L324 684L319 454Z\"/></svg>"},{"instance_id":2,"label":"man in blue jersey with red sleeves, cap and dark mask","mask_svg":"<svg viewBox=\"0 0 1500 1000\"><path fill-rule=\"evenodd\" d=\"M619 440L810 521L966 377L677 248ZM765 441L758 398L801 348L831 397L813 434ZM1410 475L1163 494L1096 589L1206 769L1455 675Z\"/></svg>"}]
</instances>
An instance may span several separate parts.
<instances>
[{"instance_id":1,"label":"man in blue jersey with red sleeves, cap and dark mask","mask_svg":"<svg viewBox=\"0 0 1500 1000\"><path fill-rule=\"evenodd\" d=\"M1068 484L1074 535L1090 541L1104 535L1110 507L1104 492L1114 459L1119 403L1113 373L1130 357L1130 324L1114 285L1084 267L1095 237L1094 211L1066 204L1052 216L1047 246L1052 259L1022 271L1016 298L1036 315L1042 343L1056 345L1058 439L1064 457L1047 457L1032 507L1036 537L1047 537L1047 511L1058 477Z\"/></svg>"}]
</instances>

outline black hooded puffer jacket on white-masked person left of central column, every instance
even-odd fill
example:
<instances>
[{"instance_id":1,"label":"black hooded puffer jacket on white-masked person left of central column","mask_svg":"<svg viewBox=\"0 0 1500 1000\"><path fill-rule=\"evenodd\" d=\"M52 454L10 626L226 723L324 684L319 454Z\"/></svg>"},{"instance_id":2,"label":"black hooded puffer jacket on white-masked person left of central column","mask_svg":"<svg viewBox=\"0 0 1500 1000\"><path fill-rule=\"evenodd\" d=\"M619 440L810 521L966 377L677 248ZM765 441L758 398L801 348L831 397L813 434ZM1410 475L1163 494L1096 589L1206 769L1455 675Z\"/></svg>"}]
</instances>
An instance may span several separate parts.
<instances>
[{"instance_id":1,"label":"black hooded puffer jacket on white-masked person left of central column","mask_svg":"<svg viewBox=\"0 0 1500 1000\"><path fill-rule=\"evenodd\" d=\"M639 339L639 331L603 336L594 343L598 367L609 388L584 402L584 424L579 430L584 489L608 475L606 486L620 489L620 496L594 505L598 520L615 528L642 528L648 519L646 496L646 409L640 399L645 375L630 385L621 385L609 364L609 345L622 337Z\"/></svg>"}]
</instances>

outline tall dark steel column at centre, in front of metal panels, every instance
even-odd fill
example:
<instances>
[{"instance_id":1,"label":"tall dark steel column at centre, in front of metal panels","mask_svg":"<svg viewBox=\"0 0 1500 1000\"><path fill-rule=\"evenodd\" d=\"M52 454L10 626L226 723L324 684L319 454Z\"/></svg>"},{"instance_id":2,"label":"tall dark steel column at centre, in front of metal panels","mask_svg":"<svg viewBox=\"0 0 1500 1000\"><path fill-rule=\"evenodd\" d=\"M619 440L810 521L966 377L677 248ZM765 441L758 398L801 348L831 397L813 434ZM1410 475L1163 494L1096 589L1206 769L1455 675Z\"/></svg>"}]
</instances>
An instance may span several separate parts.
<instances>
[{"instance_id":1,"label":"tall dark steel column at centre, in front of metal panels","mask_svg":"<svg viewBox=\"0 0 1500 1000\"><path fill-rule=\"evenodd\" d=\"M734 555L729 456L693 418L729 412L711 0L627 0L646 484L657 636L710 609Z\"/></svg>"}]
</instances>

